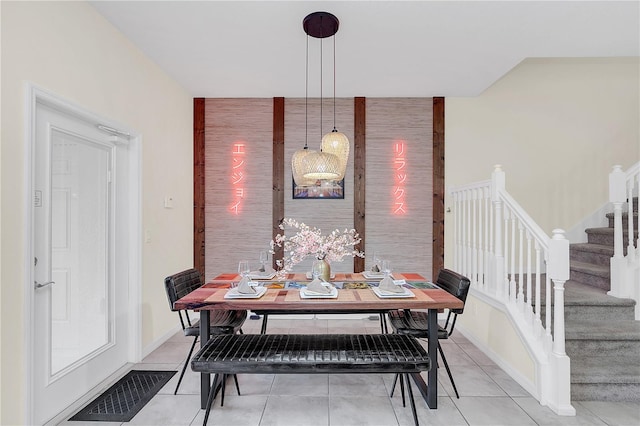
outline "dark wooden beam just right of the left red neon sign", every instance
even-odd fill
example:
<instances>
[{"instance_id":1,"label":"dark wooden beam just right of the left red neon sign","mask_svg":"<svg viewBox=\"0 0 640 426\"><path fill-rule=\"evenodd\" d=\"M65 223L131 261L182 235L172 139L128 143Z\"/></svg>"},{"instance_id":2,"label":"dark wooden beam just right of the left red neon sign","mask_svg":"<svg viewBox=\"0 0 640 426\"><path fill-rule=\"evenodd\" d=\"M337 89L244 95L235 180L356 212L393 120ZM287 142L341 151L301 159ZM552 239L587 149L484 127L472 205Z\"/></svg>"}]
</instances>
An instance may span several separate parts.
<instances>
[{"instance_id":1,"label":"dark wooden beam just right of the left red neon sign","mask_svg":"<svg viewBox=\"0 0 640 426\"><path fill-rule=\"evenodd\" d=\"M284 220L284 98L273 98L273 215L271 217L271 239L280 233ZM282 259L282 248L276 249L275 260Z\"/></svg>"}]
</instances>

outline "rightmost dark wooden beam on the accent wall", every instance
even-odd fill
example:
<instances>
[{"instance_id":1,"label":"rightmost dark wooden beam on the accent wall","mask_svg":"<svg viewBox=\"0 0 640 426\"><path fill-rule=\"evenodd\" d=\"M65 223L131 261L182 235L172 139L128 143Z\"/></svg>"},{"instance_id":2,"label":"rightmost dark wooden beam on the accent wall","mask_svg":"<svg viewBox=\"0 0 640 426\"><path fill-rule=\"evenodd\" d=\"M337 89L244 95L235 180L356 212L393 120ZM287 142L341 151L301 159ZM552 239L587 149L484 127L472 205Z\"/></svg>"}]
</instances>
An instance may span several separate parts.
<instances>
[{"instance_id":1,"label":"rightmost dark wooden beam on the accent wall","mask_svg":"<svg viewBox=\"0 0 640 426\"><path fill-rule=\"evenodd\" d=\"M433 98L433 267L444 267L444 98Z\"/></svg>"}]
</instances>

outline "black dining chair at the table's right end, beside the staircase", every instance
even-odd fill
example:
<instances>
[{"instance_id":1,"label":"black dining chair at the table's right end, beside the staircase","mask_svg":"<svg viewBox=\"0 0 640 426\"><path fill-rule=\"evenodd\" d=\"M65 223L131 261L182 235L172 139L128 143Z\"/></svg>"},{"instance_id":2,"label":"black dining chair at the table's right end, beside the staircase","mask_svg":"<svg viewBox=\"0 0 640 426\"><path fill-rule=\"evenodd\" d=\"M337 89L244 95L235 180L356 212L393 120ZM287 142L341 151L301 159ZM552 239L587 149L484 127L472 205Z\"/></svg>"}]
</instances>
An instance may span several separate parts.
<instances>
[{"instance_id":1,"label":"black dining chair at the table's right end, beside the staircase","mask_svg":"<svg viewBox=\"0 0 640 426\"><path fill-rule=\"evenodd\" d=\"M463 302L466 302L471 282L469 281L469 278L460 275L457 272L451 271L449 269L441 269L434 284L436 284L441 289L448 291ZM451 384L453 385L453 390L456 393L456 398L458 399L460 398L460 395L458 394L456 383L453 380L453 376L451 375L451 370L449 369L447 358L444 356L444 351L442 350L442 346L440 345L440 340L448 339L451 334L453 334L453 329L456 326L456 319L458 318L458 315L461 315L463 312L464 306L459 309L450 309L444 325L438 325L438 352L440 352L440 357L442 358L444 367L447 370L447 374L449 375L449 379L451 380ZM399 309L390 311L388 317L394 333L409 334L421 339L429 338L429 322L427 312ZM397 380L398 375L396 375L395 379L393 380L393 387L391 389L392 397ZM402 380L402 377L400 377L400 388L402 391L402 400L404 403L404 384Z\"/></svg>"}]
</instances>

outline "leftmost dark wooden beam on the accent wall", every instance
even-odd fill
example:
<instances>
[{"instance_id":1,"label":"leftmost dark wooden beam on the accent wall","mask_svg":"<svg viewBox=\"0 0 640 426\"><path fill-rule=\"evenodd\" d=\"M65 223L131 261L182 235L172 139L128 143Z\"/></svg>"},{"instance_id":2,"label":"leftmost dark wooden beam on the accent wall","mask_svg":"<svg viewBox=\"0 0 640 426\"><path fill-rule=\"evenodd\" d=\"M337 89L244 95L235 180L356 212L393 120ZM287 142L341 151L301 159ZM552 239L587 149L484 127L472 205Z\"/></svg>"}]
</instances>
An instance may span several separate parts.
<instances>
[{"instance_id":1,"label":"leftmost dark wooden beam on the accent wall","mask_svg":"<svg viewBox=\"0 0 640 426\"><path fill-rule=\"evenodd\" d=\"M204 279L204 98L193 99L193 267Z\"/></svg>"}]
</instances>

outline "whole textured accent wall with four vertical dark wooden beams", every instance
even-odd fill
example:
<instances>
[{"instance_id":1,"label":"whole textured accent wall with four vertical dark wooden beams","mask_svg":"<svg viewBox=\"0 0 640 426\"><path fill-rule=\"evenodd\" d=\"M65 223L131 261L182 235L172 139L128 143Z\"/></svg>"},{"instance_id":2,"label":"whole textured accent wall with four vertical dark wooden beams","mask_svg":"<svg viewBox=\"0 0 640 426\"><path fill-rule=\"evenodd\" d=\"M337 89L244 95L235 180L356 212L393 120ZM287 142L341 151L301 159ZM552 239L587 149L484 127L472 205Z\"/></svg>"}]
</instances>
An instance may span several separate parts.
<instances>
[{"instance_id":1,"label":"whole textured accent wall with four vertical dark wooden beams","mask_svg":"<svg viewBox=\"0 0 640 426\"><path fill-rule=\"evenodd\" d=\"M336 106L337 127L353 144L345 199L293 200L288 159L304 146L305 100L194 99L194 266L206 274L205 279L235 271L240 257L257 261L258 251L267 249L280 231L283 217L327 232L353 226L362 234L360 249L367 252L367 259L345 259L333 265L337 272L366 269L378 247L396 270L415 270L431 279L442 267L444 98L358 97L338 99ZM333 127L332 108L332 100L326 99L325 133ZM319 110L319 100L310 100L306 129L310 149L319 146ZM397 138L410 142L413 183L406 189L412 208L420 212L410 220L388 214L393 187L388 151ZM252 152L246 168L251 175L250 203L240 217L227 211L232 196L230 150L239 140L247 142ZM308 263L298 269L308 269Z\"/></svg>"}]
</instances>

